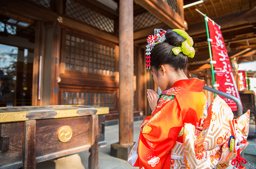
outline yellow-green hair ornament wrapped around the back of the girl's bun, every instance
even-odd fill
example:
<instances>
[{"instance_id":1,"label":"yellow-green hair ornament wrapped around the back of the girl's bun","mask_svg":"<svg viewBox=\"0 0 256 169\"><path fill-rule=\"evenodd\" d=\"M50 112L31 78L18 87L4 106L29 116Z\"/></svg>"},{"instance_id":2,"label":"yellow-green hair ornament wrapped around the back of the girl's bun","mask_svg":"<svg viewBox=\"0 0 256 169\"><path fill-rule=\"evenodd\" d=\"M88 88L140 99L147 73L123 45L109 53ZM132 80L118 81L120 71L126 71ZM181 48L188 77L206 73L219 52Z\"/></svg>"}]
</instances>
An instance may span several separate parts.
<instances>
[{"instance_id":1,"label":"yellow-green hair ornament wrapped around the back of the girl's bun","mask_svg":"<svg viewBox=\"0 0 256 169\"><path fill-rule=\"evenodd\" d=\"M181 29L173 29L173 31L179 33L186 40L182 42L181 47L175 47L172 49L175 55L183 52L183 54L187 55L190 58L195 56L195 49L193 48L193 39L189 36L187 32Z\"/></svg>"}]
</instances>

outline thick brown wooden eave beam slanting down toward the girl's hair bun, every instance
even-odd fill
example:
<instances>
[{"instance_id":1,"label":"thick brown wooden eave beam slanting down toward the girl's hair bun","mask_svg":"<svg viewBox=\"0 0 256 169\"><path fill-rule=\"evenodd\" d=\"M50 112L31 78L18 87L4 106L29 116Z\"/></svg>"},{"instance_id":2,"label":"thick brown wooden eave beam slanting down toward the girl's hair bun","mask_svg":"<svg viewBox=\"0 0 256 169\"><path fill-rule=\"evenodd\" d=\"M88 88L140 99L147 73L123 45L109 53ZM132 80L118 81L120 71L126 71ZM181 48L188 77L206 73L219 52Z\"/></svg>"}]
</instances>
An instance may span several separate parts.
<instances>
[{"instance_id":1,"label":"thick brown wooden eave beam slanting down toward the girl's hair bun","mask_svg":"<svg viewBox=\"0 0 256 169\"><path fill-rule=\"evenodd\" d=\"M156 16L158 19L167 24L167 26L169 26L171 29L187 29L186 24L184 24L185 20L181 17L177 17L179 16L177 12L173 11L171 13L170 8L168 8L168 4L165 2L164 3L166 7L163 6L162 2L156 5L155 3L157 3L158 1L160 2L160 0L134 0L136 4L139 4L147 11L154 14L154 16ZM175 18L175 16L177 18Z\"/></svg>"}]
</instances>

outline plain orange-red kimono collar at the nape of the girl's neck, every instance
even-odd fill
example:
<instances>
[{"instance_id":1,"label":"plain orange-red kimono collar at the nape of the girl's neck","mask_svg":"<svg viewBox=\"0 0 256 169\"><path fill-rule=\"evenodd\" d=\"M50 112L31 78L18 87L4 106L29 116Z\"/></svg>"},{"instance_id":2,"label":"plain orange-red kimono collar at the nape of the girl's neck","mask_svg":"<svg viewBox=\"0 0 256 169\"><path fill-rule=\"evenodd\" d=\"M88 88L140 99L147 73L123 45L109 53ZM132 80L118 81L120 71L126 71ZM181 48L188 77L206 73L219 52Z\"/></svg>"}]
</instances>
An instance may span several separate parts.
<instances>
[{"instance_id":1,"label":"plain orange-red kimono collar at the nape of the girl's neck","mask_svg":"<svg viewBox=\"0 0 256 169\"><path fill-rule=\"evenodd\" d=\"M203 86L204 86L204 80L200 80L198 78L178 80L173 84L172 88L178 87L178 86L195 91L195 92L202 92Z\"/></svg>"}]
</instances>

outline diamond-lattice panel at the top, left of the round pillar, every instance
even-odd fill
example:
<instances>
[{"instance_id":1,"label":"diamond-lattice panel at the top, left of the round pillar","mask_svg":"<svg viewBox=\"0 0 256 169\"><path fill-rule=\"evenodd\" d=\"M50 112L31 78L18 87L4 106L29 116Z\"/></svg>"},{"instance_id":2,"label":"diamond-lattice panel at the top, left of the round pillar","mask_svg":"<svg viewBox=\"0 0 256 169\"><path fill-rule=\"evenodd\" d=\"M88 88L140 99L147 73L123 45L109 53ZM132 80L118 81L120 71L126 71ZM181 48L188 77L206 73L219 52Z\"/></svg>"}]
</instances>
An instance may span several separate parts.
<instances>
[{"instance_id":1,"label":"diamond-lattice panel at the top, left of the round pillar","mask_svg":"<svg viewBox=\"0 0 256 169\"><path fill-rule=\"evenodd\" d=\"M66 0L66 15L104 31L114 32L114 21L112 19L86 8L75 1Z\"/></svg>"}]
</instances>

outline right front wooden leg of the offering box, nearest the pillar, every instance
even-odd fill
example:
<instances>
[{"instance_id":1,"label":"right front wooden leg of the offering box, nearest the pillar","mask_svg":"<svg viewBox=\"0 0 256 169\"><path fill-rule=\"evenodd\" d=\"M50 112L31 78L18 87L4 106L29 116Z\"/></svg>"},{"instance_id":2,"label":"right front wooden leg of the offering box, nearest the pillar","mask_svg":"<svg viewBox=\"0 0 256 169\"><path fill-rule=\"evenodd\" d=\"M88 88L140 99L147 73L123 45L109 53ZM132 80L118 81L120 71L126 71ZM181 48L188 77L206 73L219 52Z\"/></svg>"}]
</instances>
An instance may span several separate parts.
<instances>
[{"instance_id":1,"label":"right front wooden leg of the offering box, nearest the pillar","mask_svg":"<svg viewBox=\"0 0 256 169\"><path fill-rule=\"evenodd\" d=\"M98 147L98 115L91 116L90 143L88 169L99 168L99 147Z\"/></svg>"}]
</instances>

